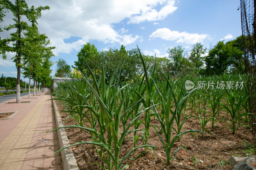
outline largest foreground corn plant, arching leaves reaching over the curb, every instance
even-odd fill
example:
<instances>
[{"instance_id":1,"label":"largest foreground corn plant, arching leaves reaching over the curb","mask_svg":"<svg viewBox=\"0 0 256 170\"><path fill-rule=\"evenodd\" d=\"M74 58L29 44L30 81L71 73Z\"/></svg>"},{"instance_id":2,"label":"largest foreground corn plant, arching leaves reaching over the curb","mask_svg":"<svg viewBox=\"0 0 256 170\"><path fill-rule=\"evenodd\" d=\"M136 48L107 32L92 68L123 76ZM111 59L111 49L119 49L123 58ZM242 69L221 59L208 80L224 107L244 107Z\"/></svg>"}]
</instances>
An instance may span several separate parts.
<instances>
[{"instance_id":1,"label":"largest foreground corn plant, arching leaves reaching over the curb","mask_svg":"<svg viewBox=\"0 0 256 170\"><path fill-rule=\"evenodd\" d=\"M120 63L119 63L119 65L120 65ZM89 68L89 66L88 66L88 68ZM102 72L104 72L104 67L102 69L103 69ZM89 69L89 71L92 76L92 81L94 81L95 84L97 84L96 78L93 77L92 71L90 69ZM116 71L117 71L117 69L116 69ZM129 154L131 154L136 149L138 149L140 147L151 147L151 148L154 147L154 146L147 145L147 144L138 146L138 147L133 148L130 152L128 152L124 156L124 158L122 158L122 159L119 158L121 144L125 140L125 137L128 134L133 133L134 131L138 131L138 129L129 131L129 128L133 125L134 121L143 112L147 111L152 106L145 108L144 110L139 112L137 115L135 115L134 118L132 119L132 121L127 125L126 129L121 134L121 137L119 138L119 125L121 123L121 119L123 118L122 110L124 108L123 107L124 101L125 101L125 97L128 93L128 90L125 91L124 98L121 99L120 103L118 103L117 96L121 92L122 89L124 89L126 86L129 87L129 84L122 88L119 88L119 86L118 86L119 80L117 80L117 82L114 82L114 77L116 77L115 74L116 73L114 73L114 75L111 77L109 84L106 87L106 91L102 92L101 94L99 93L100 89L98 86L95 86L95 88L93 88L92 85L90 84L90 82L87 79L85 79L85 82L87 83L89 88L92 90L97 102L99 103L100 113L98 113L91 106L84 106L84 107L87 107L89 110L91 110L92 113L95 114L97 119L100 119L100 114L103 116L105 126L106 126L107 139L105 139L104 136L102 134L98 133L95 129L84 128L84 127L80 127L77 125L76 126L67 126L67 127L82 128L82 129L92 133L94 136L96 136L98 138L98 140L95 140L95 141L87 141L87 142L80 141L76 144L93 144L93 145L99 146L100 148L105 149L105 151L108 153L108 157L107 157L108 159L105 159L105 161L106 161L105 163L108 165L109 170L113 169L113 168L115 168L116 170L121 169L121 166L122 166L122 163L124 162L124 160L129 156ZM103 79L104 79L103 77L104 76L101 76L101 81L103 81ZM105 99L107 100L106 102L104 101ZM140 99L140 100L142 100L142 99ZM124 110L124 114L129 112L129 110L132 109L132 107L134 107L138 102L140 102L140 100L136 101L129 108ZM107 103L107 104L105 104L105 103ZM65 128L65 127L63 127L63 128ZM74 146L76 144L72 144L70 146ZM70 146L68 146L68 147L70 147ZM65 149L65 148L62 148L61 150L63 150L63 149ZM119 160L121 160L120 163L119 163Z\"/></svg>"}]
</instances>

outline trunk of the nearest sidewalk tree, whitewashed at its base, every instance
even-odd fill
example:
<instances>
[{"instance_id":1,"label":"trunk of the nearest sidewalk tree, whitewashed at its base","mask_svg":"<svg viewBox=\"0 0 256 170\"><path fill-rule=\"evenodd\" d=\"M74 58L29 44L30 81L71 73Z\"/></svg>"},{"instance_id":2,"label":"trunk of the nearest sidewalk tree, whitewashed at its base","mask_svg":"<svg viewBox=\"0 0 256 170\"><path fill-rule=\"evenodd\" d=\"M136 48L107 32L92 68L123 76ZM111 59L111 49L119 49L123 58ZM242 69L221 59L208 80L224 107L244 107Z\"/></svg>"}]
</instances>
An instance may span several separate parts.
<instances>
[{"instance_id":1,"label":"trunk of the nearest sidewalk tree, whitewashed at its base","mask_svg":"<svg viewBox=\"0 0 256 170\"><path fill-rule=\"evenodd\" d=\"M16 84L16 103L20 103L20 60L21 60L21 53L20 53L20 49L21 49L21 29L20 29L20 9L19 9L19 0L17 0L17 6L18 6L18 34L19 34L19 39L18 39L18 48L19 48L19 52L18 52L18 56L17 56L17 84Z\"/></svg>"}]
</instances>

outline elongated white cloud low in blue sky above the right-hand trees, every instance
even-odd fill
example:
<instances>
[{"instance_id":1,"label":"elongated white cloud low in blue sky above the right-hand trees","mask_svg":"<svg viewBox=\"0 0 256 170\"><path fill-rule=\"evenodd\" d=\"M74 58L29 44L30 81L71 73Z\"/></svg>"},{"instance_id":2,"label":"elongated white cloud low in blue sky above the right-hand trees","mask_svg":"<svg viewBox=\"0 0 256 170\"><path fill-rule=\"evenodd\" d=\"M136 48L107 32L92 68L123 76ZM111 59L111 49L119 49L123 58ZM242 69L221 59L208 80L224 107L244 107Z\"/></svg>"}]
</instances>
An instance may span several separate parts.
<instances>
[{"instance_id":1,"label":"elongated white cloud low in blue sky above the right-hand trees","mask_svg":"<svg viewBox=\"0 0 256 170\"><path fill-rule=\"evenodd\" d=\"M177 43L195 44L199 40L209 37L207 34L187 33L179 31L171 31L168 28L160 28L153 32L149 38L161 38L168 41L176 41Z\"/></svg>"}]
</instances>

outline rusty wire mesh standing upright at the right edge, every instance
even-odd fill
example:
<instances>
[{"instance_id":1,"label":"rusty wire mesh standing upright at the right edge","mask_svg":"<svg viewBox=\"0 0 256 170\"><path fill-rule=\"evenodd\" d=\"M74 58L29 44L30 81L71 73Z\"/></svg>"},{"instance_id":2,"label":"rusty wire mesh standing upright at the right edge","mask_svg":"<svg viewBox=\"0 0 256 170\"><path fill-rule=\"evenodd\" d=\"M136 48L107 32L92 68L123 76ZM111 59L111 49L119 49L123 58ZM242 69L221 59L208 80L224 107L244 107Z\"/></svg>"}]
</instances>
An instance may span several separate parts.
<instances>
[{"instance_id":1,"label":"rusty wire mesh standing upright at the right edge","mask_svg":"<svg viewBox=\"0 0 256 170\"><path fill-rule=\"evenodd\" d=\"M244 43L244 65L249 94L249 111L252 114L252 132L254 150L256 150L256 13L254 0L240 0L242 35ZM256 152L255 152L256 153Z\"/></svg>"}]
</instances>

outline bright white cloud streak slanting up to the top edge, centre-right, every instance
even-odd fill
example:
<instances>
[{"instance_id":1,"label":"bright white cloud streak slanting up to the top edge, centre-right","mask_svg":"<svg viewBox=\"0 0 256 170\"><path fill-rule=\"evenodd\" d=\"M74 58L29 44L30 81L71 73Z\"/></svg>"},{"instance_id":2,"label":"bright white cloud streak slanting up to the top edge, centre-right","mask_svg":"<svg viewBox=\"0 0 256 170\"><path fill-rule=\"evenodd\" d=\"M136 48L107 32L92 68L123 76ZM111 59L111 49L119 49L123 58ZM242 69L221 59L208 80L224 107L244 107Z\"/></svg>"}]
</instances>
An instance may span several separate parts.
<instances>
[{"instance_id":1,"label":"bright white cloud streak slanting up to the top edge, centre-right","mask_svg":"<svg viewBox=\"0 0 256 170\"><path fill-rule=\"evenodd\" d=\"M140 15L131 17L131 20L128 21L127 24L139 24L144 21L163 20L177 9L177 7L174 6L174 3L174 0L167 1L165 6L162 7L159 12L156 11L156 9L149 7L147 10L142 11Z\"/></svg>"}]
</instances>

